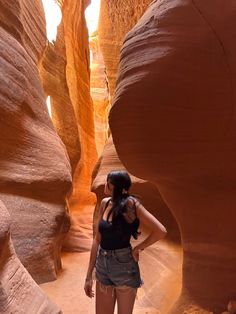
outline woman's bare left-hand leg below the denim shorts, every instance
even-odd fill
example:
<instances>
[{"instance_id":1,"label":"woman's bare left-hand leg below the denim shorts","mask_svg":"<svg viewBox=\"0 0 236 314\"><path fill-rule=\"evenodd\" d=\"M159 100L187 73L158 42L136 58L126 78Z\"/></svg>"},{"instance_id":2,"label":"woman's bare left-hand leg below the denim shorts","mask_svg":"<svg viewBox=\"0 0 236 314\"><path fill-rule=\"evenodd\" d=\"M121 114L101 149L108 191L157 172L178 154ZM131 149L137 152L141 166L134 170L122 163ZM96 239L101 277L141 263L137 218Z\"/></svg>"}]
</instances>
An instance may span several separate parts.
<instances>
[{"instance_id":1,"label":"woman's bare left-hand leg below the denim shorts","mask_svg":"<svg viewBox=\"0 0 236 314\"><path fill-rule=\"evenodd\" d=\"M96 281L96 314L113 314L116 292L113 286L105 286Z\"/></svg>"}]
</instances>

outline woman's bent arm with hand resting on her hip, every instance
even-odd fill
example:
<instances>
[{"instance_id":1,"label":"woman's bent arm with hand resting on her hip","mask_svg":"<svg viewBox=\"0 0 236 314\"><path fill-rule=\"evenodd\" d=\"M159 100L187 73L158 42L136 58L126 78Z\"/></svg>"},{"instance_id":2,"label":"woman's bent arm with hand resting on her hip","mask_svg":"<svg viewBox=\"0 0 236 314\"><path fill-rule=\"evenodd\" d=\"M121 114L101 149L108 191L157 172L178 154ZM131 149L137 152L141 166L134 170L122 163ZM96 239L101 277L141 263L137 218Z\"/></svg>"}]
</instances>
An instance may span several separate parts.
<instances>
[{"instance_id":1,"label":"woman's bent arm with hand resting on her hip","mask_svg":"<svg viewBox=\"0 0 236 314\"><path fill-rule=\"evenodd\" d=\"M166 228L158 221L152 214L150 214L146 208L136 201L136 212L140 220L140 228L149 230L147 238L139 243L133 249L133 256L138 261L139 251L144 250L146 247L152 245L156 241L163 239L166 234Z\"/></svg>"}]
</instances>

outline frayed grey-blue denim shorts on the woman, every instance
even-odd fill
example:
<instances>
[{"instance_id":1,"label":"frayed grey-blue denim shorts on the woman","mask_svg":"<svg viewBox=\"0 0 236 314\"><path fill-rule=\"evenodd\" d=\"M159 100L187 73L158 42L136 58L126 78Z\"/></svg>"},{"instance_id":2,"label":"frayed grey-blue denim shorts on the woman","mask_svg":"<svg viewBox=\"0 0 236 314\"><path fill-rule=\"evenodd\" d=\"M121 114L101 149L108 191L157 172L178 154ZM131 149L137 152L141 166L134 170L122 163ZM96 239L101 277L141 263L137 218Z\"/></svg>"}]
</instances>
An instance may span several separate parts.
<instances>
[{"instance_id":1,"label":"frayed grey-blue denim shorts on the woman","mask_svg":"<svg viewBox=\"0 0 236 314\"><path fill-rule=\"evenodd\" d=\"M139 265L133 258L131 246L117 250L99 247L95 267L96 279L105 286L138 288L142 285Z\"/></svg>"}]
</instances>

